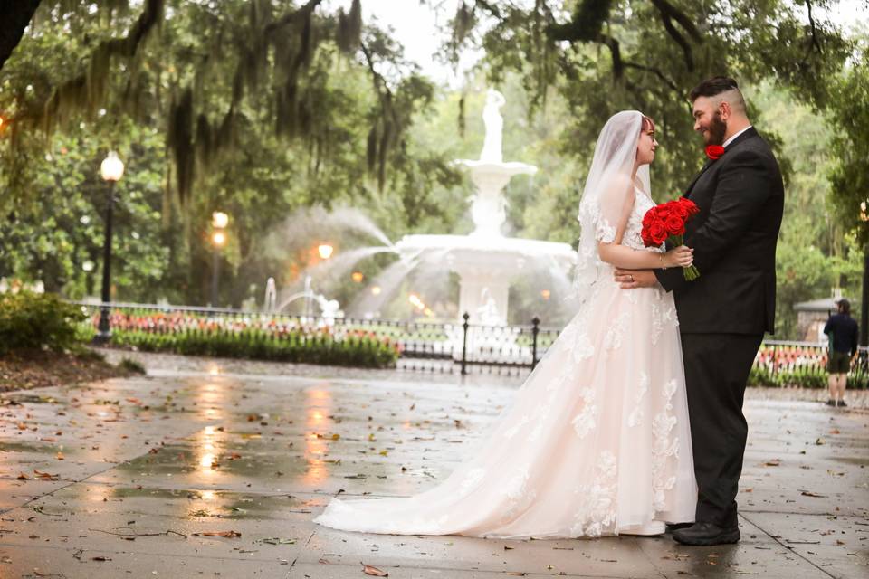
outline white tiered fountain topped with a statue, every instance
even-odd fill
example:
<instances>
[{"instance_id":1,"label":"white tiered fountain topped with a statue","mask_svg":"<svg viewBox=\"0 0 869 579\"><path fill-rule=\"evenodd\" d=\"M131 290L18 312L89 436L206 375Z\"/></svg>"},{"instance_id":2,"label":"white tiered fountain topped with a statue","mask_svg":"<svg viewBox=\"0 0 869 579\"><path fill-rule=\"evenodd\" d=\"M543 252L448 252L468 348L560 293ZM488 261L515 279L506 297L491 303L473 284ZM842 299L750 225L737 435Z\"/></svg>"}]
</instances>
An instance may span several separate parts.
<instances>
[{"instance_id":1,"label":"white tiered fountain topped with a statue","mask_svg":"<svg viewBox=\"0 0 869 579\"><path fill-rule=\"evenodd\" d=\"M443 252L444 265L461 278L459 317L470 314L472 324L506 326L508 291L511 282L527 271L529 263L545 265L567 274L576 261L576 252L568 243L505 237L501 226L506 220L507 205L503 188L516 175L534 175L537 167L503 161L501 142L504 120L501 106L504 97L489 90L482 120L486 128L479 160L461 159L477 187L472 197L471 216L474 230L470 235L406 235L396 249L406 260L425 259L426 254ZM526 273L529 275L529 273Z\"/></svg>"}]
</instances>

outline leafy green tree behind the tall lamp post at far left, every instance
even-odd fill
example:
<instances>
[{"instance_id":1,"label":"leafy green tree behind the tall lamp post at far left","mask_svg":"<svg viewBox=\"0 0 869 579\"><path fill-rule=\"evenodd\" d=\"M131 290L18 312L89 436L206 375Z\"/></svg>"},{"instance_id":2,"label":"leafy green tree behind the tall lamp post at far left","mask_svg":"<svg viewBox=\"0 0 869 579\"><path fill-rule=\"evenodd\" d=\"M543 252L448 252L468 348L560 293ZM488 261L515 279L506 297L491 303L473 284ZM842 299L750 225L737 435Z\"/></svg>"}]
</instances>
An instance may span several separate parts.
<instances>
[{"instance_id":1,"label":"leafy green tree behind the tall lamp post at far left","mask_svg":"<svg viewBox=\"0 0 869 579\"><path fill-rule=\"evenodd\" d=\"M27 139L27 190L40 203L15 204L0 222L0 277L42 280L71 298L99 289L109 187L97 167L116 131L127 172L115 188L112 281L129 289L120 294L128 299L158 289L170 266L160 220L163 147L155 131L105 118L57 136L47 153Z\"/></svg>"}]
</instances>

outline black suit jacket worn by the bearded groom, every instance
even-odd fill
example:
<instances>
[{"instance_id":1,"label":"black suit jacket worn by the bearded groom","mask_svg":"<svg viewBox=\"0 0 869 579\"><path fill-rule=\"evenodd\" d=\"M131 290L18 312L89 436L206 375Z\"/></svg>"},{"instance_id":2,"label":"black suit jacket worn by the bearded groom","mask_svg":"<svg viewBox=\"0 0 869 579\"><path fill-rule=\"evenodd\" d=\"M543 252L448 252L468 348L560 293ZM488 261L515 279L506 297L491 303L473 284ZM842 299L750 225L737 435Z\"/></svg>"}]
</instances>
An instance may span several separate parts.
<instances>
[{"instance_id":1,"label":"black suit jacket worn by the bearded groom","mask_svg":"<svg viewBox=\"0 0 869 579\"><path fill-rule=\"evenodd\" d=\"M674 292L683 334L772 333L776 317L776 244L785 191L778 162L753 127L710 160L685 191L700 209L686 225L701 276L655 270Z\"/></svg>"}]
</instances>

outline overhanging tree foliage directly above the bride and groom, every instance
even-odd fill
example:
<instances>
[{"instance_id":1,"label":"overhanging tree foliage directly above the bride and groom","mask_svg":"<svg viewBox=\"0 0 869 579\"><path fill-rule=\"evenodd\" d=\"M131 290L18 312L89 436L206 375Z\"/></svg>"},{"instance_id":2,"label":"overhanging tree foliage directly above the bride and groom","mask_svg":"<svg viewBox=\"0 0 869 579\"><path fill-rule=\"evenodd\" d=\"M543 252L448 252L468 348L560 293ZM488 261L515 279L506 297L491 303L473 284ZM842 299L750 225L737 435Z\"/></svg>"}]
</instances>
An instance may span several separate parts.
<instances>
[{"instance_id":1,"label":"overhanging tree foliage directly above the bride and groom","mask_svg":"<svg viewBox=\"0 0 869 579\"><path fill-rule=\"evenodd\" d=\"M851 43L817 18L804 24L797 15L803 9L784 0L473 3L489 23L480 44L492 80L517 71L533 108L549 103L550 88L568 103L566 153L590 160L598 131L618 110L655 119L662 147L653 186L666 198L703 162L687 101L703 78L729 74L743 85L770 79L805 102L826 103Z\"/></svg>"}]
</instances>

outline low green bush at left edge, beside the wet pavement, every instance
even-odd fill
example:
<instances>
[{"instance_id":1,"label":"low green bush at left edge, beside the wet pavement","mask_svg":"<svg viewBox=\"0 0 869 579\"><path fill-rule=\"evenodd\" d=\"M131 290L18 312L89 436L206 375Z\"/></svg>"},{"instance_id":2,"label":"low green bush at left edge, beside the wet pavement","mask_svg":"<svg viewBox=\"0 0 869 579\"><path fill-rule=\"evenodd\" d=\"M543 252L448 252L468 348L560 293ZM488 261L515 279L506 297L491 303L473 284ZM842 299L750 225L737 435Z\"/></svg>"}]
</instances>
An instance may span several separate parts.
<instances>
[{"instance_id":1,"label":"low green bush at left edge, beside the wet pavement","mask_svg":"<svg viewBox=\"0 0 869 579\"><path fill-rule=\"evenodd\" d=\"M14 350L72 349L83 318L81 308L53 294L0 294L0 355Z\"/></svg>"}]
</instances>

